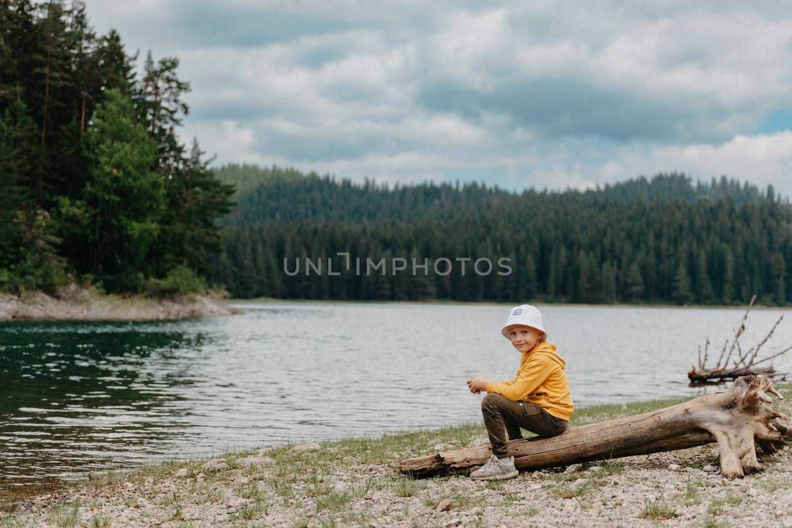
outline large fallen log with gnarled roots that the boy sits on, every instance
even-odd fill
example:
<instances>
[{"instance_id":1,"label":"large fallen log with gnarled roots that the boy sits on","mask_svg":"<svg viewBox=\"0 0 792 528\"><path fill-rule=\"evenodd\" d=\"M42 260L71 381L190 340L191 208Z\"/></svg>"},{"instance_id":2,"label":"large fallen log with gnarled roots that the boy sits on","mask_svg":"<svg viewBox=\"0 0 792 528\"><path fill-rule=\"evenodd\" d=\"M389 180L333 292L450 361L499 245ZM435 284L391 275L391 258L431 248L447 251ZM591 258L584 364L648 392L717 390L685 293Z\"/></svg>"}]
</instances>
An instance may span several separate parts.
<instances>
[{"instance_id":1,"label":"large fallen log with gnarled roots that the boy sits on","mask_svg":"<svg viewBox=\"0 0 792 528\"><path fill-rule=\"evenodd\" d=\"M792 439L790 418L772 408L775 400L767 393L782 398L769 379L749 375L724 392L665 409L570 428L552 438L512 440L507 454L514 456L518 470L532 471L718 442L723 476L743 477L764 469L756 458L756 443L775 453ZM488 446L440 451L404 460L400 470L416 477L467 471L491 454Z\"/></svg>"}]
</instances>

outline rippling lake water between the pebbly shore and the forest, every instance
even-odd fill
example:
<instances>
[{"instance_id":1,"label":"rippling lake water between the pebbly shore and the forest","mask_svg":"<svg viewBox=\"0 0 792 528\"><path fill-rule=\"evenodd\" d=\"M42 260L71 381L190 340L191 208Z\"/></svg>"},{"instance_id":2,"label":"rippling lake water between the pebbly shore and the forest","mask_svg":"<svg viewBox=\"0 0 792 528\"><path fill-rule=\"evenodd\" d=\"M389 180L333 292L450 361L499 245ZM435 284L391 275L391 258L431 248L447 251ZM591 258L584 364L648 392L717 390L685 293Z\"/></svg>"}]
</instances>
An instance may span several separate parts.
<instances>
[{"instance_id":1,"label":"rippling lake water between the pebbly shore and the forest","mask_svg":"<svg viewBox=\"0 0 792 528\"><path fill-rule=\"evenodd\" d=\"M510 379L510 305L243 304L177 322L0 323L0 503L88 470L481 419L465 380ZM741 309L542 307L575 405L691 388ZM752 311L752 345L780 311ZM767 351L792 341L792 321ZM714 348L719 350L719 346ZM790 358L775 361L789 370Z\"/></svg>"}]
</instances>

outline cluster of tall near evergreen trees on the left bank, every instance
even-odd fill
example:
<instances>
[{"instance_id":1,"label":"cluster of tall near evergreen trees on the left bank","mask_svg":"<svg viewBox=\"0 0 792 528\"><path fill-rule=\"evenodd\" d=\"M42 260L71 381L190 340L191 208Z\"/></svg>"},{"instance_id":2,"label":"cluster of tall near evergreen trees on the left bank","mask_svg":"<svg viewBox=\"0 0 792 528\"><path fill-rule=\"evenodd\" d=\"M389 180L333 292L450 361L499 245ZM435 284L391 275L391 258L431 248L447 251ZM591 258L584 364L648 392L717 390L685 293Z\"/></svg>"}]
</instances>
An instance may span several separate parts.
<instances>
[{"instance_id":1,"label":"cluster of tall near evergreen trees on the left bank","mask_svg":"<svg viewBox=\"0 0 792 528\"><path fill-rule=\"evenodd\" d=\"M137 75L83 2L0 2L0 291L192 283L233 189L177 138L177 58ZM165 281L165 282L163 282Z\"/></svg>"}]
</instances>

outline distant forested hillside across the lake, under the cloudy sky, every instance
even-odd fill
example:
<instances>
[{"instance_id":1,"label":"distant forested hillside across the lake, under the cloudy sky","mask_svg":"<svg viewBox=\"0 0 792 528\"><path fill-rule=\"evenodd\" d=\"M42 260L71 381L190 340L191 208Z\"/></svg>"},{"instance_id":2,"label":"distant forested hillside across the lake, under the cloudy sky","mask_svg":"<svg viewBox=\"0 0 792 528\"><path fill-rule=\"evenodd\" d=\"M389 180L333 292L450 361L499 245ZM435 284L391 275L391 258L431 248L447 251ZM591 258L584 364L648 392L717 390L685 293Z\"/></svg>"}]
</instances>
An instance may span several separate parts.
<instances>
[{"instance_id":1,"label":"distant forested hillside across the lake, under the cloudy sky","mask_svg":"<svg viewBox=\"0 0 792 528\"><path fill-rule=\"evenodd\" d=\"M792 209L771 188L684 175L634 179L599 190L512 193L479 183L387 189L294 170L227 166L240 182L223 220L227 243L215 281L234 296L417 300L564 300L581 303L733 304L753 293L792 299ZM428 258L428 273L340 276L295 258ZM441 276L437 258L510 258L512 273L479 276L468 264ZM344 258L335 257L333 270ZM325 262L326 266L326 262ZM441 266L441 270L444 270Z\"/></svg>"}]
</instances>

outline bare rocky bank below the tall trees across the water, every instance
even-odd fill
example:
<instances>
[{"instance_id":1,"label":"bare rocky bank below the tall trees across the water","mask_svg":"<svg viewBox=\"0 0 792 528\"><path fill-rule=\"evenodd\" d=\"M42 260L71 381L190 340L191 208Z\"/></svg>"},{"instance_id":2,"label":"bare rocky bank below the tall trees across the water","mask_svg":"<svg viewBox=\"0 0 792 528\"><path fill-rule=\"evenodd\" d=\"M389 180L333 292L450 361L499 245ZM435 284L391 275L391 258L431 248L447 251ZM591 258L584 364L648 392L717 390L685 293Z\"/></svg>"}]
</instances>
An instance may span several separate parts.
<instances>
[{"instance_id":1,"label":"bare rocky bank below the tall trees across the water","mask_svg":"<svg viewBox=\"0 0 792 528\"><path fill-rule=\"evenodd\" d=\"M98 295L87 289L66 289L59 297L44 292L22 296L0 294L0 321L19 319L78 321L159 321L238 314L220 296L195 295L176 299Z\"/></svg>"}]
</instances>

